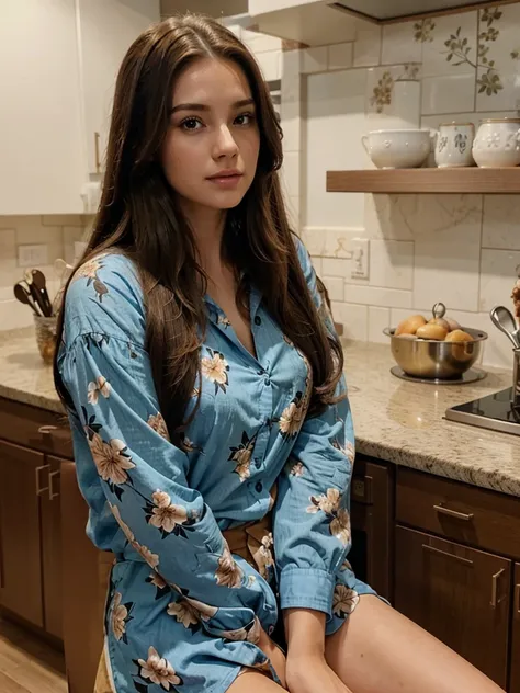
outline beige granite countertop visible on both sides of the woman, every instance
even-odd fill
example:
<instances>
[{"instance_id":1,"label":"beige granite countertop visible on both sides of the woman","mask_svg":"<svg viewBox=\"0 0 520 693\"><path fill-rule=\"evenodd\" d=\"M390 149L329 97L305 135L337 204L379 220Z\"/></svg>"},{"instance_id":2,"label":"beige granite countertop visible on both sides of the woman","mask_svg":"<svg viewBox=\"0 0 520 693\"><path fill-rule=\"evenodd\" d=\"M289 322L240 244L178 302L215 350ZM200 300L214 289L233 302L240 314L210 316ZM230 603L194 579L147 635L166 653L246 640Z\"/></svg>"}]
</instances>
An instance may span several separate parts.
<instances>
[{"instance_id":1,"label":"beige granite countertop visible on both sides of the woman","mask_svg":"<svg viewBox=\"0 0 520 693\"><path fill-rule=\"evenodd\" d=\"M343 346L359 453L520 497L520 439L443 419L453 405L509 387L509 372L486 368L471 385L422 385L389 373L389 346ZM33 328L0 333L0 396L63 412Z\"/></svg>"}]
</instances>

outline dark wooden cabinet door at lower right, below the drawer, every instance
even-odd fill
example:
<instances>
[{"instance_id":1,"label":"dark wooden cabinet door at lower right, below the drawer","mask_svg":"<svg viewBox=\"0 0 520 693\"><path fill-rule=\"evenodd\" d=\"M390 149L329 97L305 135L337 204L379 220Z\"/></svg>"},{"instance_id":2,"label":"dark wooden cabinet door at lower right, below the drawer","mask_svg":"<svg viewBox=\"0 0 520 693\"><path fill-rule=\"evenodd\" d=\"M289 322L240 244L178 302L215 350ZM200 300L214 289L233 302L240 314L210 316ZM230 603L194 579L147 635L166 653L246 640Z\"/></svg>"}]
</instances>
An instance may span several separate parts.
<instances>
[{"instance_id":1,"label":"dark wooden cabinet door at lower right, below the drawer","mask_svg":"<svg viewBox=\"0 0 520 693\"><path fill-rule=\"evenodd\" d=\"M502 689L510 587L510 560L396 527L396 609Z\"/></svg>"}]
</instances>

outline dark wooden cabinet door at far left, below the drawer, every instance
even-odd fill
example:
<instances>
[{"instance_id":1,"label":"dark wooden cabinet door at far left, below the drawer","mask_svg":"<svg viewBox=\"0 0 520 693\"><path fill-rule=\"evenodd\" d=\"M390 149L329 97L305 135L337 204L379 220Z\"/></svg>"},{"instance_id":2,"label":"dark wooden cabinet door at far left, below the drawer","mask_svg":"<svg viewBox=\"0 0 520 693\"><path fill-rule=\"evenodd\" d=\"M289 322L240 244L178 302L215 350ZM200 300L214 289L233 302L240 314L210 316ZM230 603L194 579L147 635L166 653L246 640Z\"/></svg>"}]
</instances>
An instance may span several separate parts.
<instances>
[{"instance_id":1,"label":"dark wooden cabinet door at far left, below the drawer","mask_svg":"<svg viewBox=\"0 0 520 693\"><path fill-rule=\"evenodd\" d=\"M0 604L43 626L39 499L44 455L0 441Z\"/></svg>"}]
</instances>

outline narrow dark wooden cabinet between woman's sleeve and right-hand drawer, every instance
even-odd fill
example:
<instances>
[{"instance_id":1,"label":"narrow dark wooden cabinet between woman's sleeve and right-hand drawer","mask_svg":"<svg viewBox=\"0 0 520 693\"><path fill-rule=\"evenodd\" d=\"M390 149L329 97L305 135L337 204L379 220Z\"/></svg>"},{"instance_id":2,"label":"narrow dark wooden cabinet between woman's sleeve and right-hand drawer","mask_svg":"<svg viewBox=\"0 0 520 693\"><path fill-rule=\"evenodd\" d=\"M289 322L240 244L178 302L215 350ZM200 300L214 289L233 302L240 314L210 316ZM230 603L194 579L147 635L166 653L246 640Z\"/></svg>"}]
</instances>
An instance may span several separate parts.
<instances>
[{"instance_id":1,"label":"narrow dark wooden cabinet between woman's sleeve and right-hand drawer","mask_svg":"<svg viewBox=\"0 0 520 693\"><path fill-rule=\"evenodd\" d=\"M352 549L360 580L392 601L394 468L358 456L351 485Z\"/></svg>"}]
</instances>

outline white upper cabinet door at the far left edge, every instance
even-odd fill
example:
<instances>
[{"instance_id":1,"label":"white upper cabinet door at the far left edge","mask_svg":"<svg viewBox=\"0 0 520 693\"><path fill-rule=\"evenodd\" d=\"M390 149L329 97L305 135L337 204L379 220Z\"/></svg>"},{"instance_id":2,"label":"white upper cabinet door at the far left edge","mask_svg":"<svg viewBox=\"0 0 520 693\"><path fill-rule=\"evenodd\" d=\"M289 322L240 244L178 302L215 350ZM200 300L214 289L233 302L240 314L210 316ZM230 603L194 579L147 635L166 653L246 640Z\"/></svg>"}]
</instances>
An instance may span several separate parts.
<instances>
[{"instance_id":1,"label":"white upper cabinet door at the far left edge","mask_svg":"<svg viewBox=\"0 0 520 693\"><path fill-rule=\"evenodd\" d=\"M75 0L0 2L0 215L81 213Z\"/></svg>"}]
</instances>

